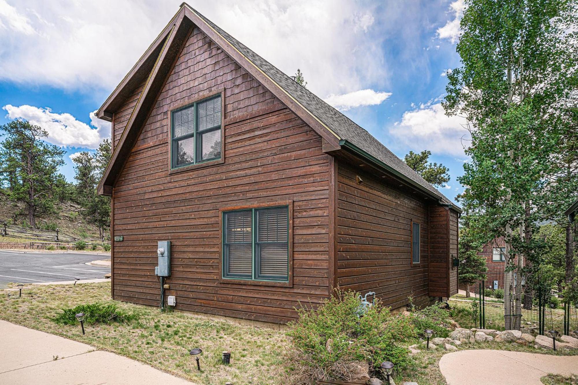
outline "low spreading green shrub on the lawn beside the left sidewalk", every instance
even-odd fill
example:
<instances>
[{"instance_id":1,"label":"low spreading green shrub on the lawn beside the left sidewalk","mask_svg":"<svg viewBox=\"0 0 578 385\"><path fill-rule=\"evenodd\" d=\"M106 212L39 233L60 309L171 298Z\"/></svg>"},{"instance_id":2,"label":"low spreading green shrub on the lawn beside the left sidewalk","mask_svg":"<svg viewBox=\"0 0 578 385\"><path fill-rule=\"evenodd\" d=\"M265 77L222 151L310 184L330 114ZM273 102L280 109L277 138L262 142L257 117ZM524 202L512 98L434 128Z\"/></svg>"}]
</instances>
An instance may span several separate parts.
<instances>
[{"instance_id":1,"label":"low spreading green shrub on the lawn beside the left sidewalk","mask_svg":"<svg viewBox=\"0 0 578 385\"><path fill-rule=\"evenodd\" d=\"M62 309L62 313L51 318L50 320L62 325L76 325L76 314L84 313L86 324L104 323L110 324L113 322L129 322L138 319L138 314L129 314L123 309L119 309L116 303L87 303L78 305L75 308Z\"/></svg>"}]
</instances>

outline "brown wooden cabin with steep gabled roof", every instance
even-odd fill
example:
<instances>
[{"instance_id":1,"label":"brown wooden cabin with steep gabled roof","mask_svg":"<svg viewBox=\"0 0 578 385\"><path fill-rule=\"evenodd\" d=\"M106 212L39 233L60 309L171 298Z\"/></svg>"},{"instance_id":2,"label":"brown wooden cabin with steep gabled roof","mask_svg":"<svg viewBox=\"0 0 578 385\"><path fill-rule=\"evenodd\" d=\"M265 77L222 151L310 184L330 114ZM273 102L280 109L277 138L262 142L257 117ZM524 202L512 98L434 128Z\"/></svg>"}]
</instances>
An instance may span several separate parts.
<instances>
[{"instance_id":1,"label":"brown wooden cabin with steep gabled roof","mask_svg":"<svg viewBox=\"0 0 578 385\"><path fill-rule=\"evenodd\" d=\"M282 42L280 42L282 43ZM286 323L336 286L393 309L457 293L460 209L186 3L97 116L112 122L112 296Z\"/></svg>"}]
</instances>

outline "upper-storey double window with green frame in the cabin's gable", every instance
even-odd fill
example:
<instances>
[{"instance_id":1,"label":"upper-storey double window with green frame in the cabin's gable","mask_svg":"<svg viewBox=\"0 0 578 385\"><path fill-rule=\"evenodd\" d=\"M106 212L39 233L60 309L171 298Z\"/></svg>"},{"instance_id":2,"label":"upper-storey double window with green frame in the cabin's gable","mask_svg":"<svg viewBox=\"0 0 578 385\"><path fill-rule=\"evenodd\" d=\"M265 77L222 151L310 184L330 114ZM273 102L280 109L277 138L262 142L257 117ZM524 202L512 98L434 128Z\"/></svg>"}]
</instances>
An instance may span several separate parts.
<instances>
[{"instance_id":1,"label":"upper-storey double window with green frame in the cabin's gable","mask_svg":"<svg viewBox=\"0 0 578 385\"><path fill-rule=\"evenodd\" d=\"M221 158L221 95L171 112L171 168Z\"/></svg>"}]
</instances>

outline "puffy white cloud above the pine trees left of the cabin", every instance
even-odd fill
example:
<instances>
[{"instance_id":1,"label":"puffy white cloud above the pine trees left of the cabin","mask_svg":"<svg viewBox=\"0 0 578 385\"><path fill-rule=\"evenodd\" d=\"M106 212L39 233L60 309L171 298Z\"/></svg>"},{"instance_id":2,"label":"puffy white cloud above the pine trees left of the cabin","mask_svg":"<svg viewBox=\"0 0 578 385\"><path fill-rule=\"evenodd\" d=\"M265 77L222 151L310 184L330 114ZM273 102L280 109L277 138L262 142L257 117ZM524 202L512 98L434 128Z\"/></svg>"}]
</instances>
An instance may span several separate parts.
<instances>
[{"instance_id":1,"label":"puffy white cloud above the pine trees left of the cabin","mask_svg":"<svg viewBox=\"0 0 578 385\"><path fill-rule=\"evenodd\" d=\"M45 129L46 142L53 145L97 149L102 139L110 137L110 123L96 119L94 112L90 114L94 127L90 127L69 113L54 113L50 108L5 105L2 109L9 119L24 119Z\"/></svg>"}]
</instances>

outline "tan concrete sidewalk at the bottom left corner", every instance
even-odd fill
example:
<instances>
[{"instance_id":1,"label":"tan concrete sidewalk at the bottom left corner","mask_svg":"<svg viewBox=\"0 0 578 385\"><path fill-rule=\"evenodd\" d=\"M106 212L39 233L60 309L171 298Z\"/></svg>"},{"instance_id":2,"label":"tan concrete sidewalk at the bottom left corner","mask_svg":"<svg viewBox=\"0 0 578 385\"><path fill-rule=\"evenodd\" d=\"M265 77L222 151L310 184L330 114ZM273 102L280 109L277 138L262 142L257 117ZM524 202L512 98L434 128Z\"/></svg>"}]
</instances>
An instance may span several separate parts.
<instances>
[{"instance_id":1,"label":"tan concrete sidewalk at the bottom left corner","mask_svg":"<svg viewBox=\"0 0 578 385\"><path fill-rule=\"evenodd\" d=\"M6 321L0 320L0 335L0 384L192 384L109 351Z\"/></svg>"}]
</instances>

